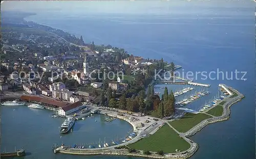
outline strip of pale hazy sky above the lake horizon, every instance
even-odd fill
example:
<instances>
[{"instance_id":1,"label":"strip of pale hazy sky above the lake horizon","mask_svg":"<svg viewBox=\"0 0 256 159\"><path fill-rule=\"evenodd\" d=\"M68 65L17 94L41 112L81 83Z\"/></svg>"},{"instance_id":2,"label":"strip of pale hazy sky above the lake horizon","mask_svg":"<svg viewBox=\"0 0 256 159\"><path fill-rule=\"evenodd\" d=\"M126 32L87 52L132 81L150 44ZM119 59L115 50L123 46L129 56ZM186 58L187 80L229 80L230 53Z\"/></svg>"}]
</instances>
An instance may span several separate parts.
<instances>
[{"instance_id":1,"label":"strip of pale hazy sky above the lake horizon","mask_svg":"<svg viewBox=\"0 0 256 159\"><path fill-rule=\"evenodd\" d=\"M252 1L251 1L252 2ZM172 14L209 12L211 7L250 7L248 1L5 1L1 11L25 11L88 14L88 13L129 13L129 14Z\"/></svg>"}]
</instances>

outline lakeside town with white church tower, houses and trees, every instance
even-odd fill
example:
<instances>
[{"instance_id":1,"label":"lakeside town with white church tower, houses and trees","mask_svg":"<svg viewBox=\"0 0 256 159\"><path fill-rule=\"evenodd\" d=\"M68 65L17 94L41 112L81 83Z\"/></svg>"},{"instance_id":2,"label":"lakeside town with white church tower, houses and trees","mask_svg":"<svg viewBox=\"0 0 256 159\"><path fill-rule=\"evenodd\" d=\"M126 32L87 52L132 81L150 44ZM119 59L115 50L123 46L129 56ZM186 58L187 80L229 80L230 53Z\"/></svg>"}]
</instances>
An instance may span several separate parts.
<instances>
[{"instance_id":1,"label":"lakeside town with white church tower, houses and trees","mask_svg":"<svg viewBox=\"0 0 256 159\"><path fill-rule=\"evenodd\" d=\"M110 45L87 44L82 36L25 20L3 25L1 57L2 96L15 94L22 100L50 104L51 109L59 108L56 102L70 105L65 109L69 113L83 102L143 114L157 111L160 97L153 86L147 95L145 90L155 71L176 68L173 62L144 59ZM80 104L74 104L74 109L72 103Z\"/></svg>"}]
</instances>

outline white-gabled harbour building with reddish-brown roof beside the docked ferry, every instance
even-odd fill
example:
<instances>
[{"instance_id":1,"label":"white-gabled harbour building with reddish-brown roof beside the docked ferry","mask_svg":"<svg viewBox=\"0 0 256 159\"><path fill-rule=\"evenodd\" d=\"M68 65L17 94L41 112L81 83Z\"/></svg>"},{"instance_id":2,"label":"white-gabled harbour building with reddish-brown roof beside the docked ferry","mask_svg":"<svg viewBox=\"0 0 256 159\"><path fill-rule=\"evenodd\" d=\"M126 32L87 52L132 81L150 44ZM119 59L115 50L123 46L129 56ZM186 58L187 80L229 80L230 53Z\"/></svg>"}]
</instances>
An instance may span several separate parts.
<instances>
[{"instance_id":1,"label":"white-gabled harbour building with reddish-brown roof beside the docked ferry","mask_svg":"<svg viewBox=\"0 0 256 159\"><path fill-rule=\"evenodd\" d=\"M75 102L73 104L59 108L58 115L67 116L68 114L75 112L83 107L85 107L85 106L83 106L81 102Z\"/></svg>"}]
</instances>

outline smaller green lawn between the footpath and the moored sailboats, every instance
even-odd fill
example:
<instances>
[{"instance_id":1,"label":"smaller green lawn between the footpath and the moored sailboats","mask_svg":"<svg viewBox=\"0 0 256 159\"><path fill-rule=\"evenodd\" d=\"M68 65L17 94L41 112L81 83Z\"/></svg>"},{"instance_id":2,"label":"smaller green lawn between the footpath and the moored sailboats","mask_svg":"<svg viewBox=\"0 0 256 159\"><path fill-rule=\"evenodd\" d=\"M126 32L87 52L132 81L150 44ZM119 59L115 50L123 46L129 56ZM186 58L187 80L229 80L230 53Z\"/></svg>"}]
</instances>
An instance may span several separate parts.
<instances>
[{"instance_id":1,"label":"smaller green lawn between the footpath and the moored sailboats","mask_svg":"<svg viewBox=\"0 0 256 159\"><path fill-rule=\"evenodd\" d=\"M187 132L201 121L211 118L211 116L204 113L186 113L184 117L179 120L170 122L170 124L179 132Z\"/></svg>"}]
</instances>

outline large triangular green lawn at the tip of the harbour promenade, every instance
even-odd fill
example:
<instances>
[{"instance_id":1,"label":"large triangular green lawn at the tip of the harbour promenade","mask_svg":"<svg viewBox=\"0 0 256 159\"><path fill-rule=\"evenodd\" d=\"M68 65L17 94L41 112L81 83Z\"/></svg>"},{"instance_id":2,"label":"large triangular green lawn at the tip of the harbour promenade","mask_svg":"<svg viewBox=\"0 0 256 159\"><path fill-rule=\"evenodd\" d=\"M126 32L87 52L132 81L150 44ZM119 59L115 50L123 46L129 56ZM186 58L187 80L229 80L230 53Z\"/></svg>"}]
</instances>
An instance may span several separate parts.
<instances>
[{"instance_id":1,"label":"large triangular green lawn at the tip of the harbour promenade","mask_svg":"<svg viewBox=\"0 0 256 159\"><path fill-rule=\"evenodd\" d=\"M150 137L128 145L128 147L143 151L157 152L162 150L164 153L175 153L176 149L180 151L189 149L190 145L166 124Z\"/></svg>"}]
</instances>

